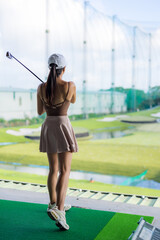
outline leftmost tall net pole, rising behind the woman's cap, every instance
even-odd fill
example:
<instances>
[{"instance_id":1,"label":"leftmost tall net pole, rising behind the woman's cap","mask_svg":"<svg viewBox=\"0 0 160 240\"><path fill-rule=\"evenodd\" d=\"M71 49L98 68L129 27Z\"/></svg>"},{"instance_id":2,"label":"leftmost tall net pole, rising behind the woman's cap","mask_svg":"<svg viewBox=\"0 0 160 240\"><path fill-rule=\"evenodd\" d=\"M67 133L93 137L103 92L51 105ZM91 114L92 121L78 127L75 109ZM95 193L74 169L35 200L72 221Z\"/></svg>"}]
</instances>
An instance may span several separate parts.
<instances>
[{"instance_id":1,"label":"leftmost tall net pole, rising behind the woman's cap","mask_svg":"<svg viewBox=\"0 0 160 240\"><path fill-rule=\"evenodd\" d=\"M45 64L48 62L48 57L49 57L49 0L46 0L46 30L45 30L45 33L46 33L46 57L45 57ZM46 68L46 80L47 80L47 76L48 76L48 65L47 65L47 68Z\"/></svg>"}]
</instances>

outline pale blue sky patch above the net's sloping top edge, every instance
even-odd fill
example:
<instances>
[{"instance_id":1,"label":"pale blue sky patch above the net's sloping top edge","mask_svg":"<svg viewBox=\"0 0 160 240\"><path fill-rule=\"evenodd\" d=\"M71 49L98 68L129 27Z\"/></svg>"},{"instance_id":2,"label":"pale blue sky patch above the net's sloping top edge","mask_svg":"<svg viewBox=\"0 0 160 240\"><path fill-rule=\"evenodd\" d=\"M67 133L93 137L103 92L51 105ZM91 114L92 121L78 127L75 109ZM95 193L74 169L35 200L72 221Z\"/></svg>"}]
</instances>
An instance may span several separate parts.
<instances>
[{"instance_id":1,"label":"pale blue sky patch above the net's sloping top edge","mask_svg":"<svg viewBox=\"0 0 160 240\"><path fill-rule=\"evenodd\" d=\"M128 24L139 25L146 30L160 27L159 0L90 0L99 11L117 15Z\"/></svg>"}]
</instances>

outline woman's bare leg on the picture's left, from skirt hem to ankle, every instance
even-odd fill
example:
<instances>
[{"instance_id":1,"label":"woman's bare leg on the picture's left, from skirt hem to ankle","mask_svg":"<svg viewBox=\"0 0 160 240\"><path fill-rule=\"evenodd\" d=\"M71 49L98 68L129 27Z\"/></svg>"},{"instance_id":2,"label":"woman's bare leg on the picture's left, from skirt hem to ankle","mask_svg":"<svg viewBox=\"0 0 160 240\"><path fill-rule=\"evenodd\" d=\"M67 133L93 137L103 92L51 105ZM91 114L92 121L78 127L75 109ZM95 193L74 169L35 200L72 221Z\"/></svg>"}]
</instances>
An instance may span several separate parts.
<instances>
[{"instance_id":1,"label":"woman's bare leg on the picture's left, from skirt hem to ankle","mask_svg":"<svg viewBox=\"0 0 160 240\"><path fill-rule=\"evenodd\" d=\"M57 193L57 175L58 175L58 155L57 153L47 153L49 162L49 174L47 180L47 186L49 191L50 203L56 203Z\"/></svg>"}]
</instances>

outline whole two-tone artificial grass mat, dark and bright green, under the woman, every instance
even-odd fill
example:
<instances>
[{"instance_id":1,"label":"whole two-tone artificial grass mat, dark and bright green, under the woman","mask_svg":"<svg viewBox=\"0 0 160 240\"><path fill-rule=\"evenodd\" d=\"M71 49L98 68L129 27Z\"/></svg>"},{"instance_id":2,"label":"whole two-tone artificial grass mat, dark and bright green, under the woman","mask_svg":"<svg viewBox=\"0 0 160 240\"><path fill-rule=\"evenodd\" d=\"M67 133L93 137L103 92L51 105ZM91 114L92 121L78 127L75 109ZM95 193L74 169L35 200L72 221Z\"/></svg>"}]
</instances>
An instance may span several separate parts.
<instances>
[{"instance_id":1,"label":"whole two-tone artificial grass mat, dark and bright green, under the woman","mask_svg":"<svg viewBox=\"0 0 160 240\"><path fill-rule=\"evenodd\" d=\"M72 207L66 213L69 231L60 231L46 214L46 204L0 200L3 240L124 240L141 216ZM152 223L153 217L144 219Z\"/></svg>"}]
</instances>

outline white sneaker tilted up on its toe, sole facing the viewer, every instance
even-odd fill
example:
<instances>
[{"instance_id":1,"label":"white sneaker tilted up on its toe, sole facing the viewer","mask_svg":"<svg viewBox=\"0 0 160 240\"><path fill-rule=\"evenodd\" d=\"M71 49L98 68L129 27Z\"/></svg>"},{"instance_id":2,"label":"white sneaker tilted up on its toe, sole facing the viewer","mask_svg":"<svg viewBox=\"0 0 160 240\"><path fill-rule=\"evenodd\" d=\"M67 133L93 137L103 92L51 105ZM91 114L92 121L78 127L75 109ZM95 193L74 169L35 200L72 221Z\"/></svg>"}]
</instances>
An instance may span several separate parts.
<instances>
[{"instance_id":1,"label":"white sneaker tilted up on its toe, sole facing the viewer","mask_svg":"<svg viewBox=\"0 0 160 240\"><path fill-rule=\"evenodd\" d=\"M49 217L56 221L57 227L59 227L61 230L69 229L69 225L66 223L65 211L60 211L58 208L52 208L47 212Z\"/></svg>"}]
</instances>

